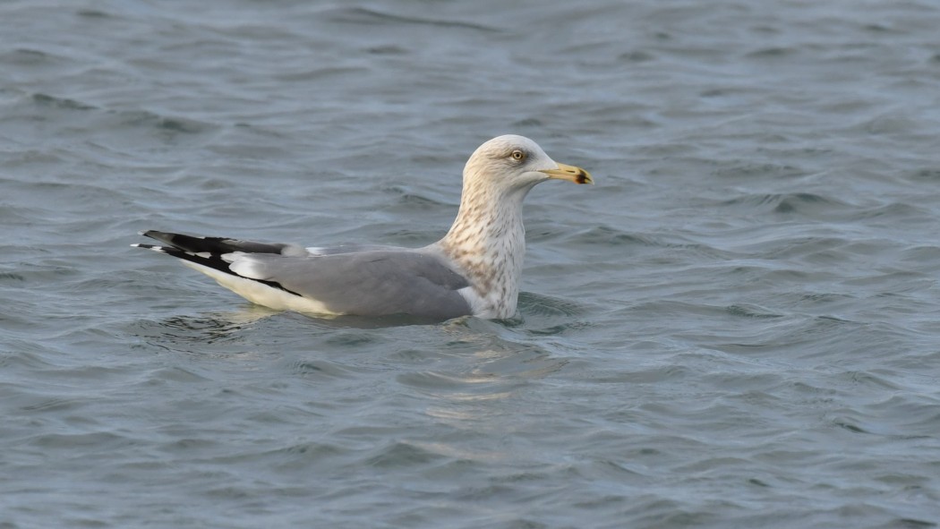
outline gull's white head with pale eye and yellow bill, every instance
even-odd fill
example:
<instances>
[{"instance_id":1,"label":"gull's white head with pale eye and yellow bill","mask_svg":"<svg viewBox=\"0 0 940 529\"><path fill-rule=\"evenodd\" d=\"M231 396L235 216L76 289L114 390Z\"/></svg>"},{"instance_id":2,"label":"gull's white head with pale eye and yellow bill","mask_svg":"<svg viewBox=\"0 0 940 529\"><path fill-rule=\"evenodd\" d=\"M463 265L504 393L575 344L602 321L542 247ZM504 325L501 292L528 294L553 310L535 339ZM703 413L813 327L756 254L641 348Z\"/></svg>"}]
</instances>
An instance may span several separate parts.
<instances>
[{"instance_id":1,"label":"gull's white head with pale eye and yellow bill","mask_svg":"<svg viewBox=\"0 0 940 529\"><path fill-rule=\"evenodd\" d=\"M584 169L557 163L539 144L515 134L497 136L479 146L463 168L463 179L464 188L478 184L508 194L527 192L547 179L594 183Z\"/></svg>"}]
</instances>

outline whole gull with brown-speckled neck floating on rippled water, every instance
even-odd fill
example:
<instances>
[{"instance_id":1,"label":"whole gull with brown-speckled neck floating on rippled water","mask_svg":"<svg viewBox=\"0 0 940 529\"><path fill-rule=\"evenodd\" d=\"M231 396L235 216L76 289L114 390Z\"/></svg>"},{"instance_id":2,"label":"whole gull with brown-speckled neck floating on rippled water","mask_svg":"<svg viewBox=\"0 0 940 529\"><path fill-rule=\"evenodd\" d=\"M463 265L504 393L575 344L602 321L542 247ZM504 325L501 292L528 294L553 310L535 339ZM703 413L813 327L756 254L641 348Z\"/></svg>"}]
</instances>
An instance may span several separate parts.
<instances>
[{"instance_id":1,"label":"whole gull with brown-speckled neck floating on rippled water","mask_svg":"<svg viewBox=\"0 0 940 529\"><path fill-rule=\"evenodd\" d=\"M540 181L590 183L532 140L505 135L481 145L463 169L461 207L446 236L424 248L303 248L147 231L179 257L254 303L338 315L410 314L504 319L516 312L525 257L522 209Z\"/></svg>"}]
</instances>

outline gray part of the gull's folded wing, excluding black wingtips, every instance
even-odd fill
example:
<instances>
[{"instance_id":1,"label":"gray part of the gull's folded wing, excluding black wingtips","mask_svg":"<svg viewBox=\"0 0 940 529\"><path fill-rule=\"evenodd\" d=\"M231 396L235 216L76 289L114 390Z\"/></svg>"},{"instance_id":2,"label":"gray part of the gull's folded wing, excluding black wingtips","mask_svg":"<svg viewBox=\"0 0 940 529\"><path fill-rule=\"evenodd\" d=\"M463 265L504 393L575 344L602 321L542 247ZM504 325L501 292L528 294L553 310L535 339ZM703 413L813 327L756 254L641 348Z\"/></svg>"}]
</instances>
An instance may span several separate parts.
<instances>
[{"instance_id":1,"label":"gray part of the gull's folded wing, excluding black wingtips","mask_svg":"<svg viewBox=\"0 0 940 529\"><path fill-rule=\"evenodd\" d=\"M469 283L443 257L373 250L310 257L233 254L233 272L319 301L339 314L450 319L471 314L457 290Z\"/></svg>"}]
</instances>

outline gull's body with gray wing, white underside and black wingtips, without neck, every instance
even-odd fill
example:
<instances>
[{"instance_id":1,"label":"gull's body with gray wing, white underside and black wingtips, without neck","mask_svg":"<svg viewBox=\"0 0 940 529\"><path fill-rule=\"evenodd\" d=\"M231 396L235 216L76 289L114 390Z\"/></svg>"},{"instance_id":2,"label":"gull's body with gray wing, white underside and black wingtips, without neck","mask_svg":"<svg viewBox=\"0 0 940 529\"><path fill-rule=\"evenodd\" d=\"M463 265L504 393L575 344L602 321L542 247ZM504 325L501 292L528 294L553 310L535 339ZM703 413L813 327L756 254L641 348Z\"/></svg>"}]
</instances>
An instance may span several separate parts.
<instances>
[{"instance_id":1,"label":"gull's body with gray wing, white underside and black wingtips, without neck","mask_svg":"<svg viewBox=\"0 0 940 529\"><path fill-rule=\"evenodd\" d=\"M469 286L467 280L427 250L378 247L316 255L294 244L144 235L169 246L137 246L179 257L249 301L274 308L434 319L471 313L459 291Z\"/></svg>"}]
</instances>

